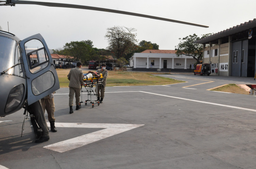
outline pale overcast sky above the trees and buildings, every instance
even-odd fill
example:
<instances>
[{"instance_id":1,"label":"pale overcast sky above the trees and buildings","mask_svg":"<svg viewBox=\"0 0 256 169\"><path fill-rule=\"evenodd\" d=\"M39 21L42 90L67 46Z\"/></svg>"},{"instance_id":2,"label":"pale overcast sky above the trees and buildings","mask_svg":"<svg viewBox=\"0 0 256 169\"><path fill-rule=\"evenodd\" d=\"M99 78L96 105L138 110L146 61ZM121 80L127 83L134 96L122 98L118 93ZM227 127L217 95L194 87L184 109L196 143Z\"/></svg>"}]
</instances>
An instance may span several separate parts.
<instances>
[{"instance_id":1,"label":"pale overcast sky above the trees and buildings","mask_svg":"<svg viewBox=\"0 0 256 169\"><path fill-rule=\"evenodd\" d=\"M37 0L34 0L37 1ZM0 26L21 40L40 33L49 49L71 41L91 40L106 48L107 28L136 29L136 39L151 41L162 50L174 50L179 38L218 33L256 18L255 0L38 0L95 6L209 26L208 28L85 9L16 4L0 6Z\"/></svg>"}]
</instances>

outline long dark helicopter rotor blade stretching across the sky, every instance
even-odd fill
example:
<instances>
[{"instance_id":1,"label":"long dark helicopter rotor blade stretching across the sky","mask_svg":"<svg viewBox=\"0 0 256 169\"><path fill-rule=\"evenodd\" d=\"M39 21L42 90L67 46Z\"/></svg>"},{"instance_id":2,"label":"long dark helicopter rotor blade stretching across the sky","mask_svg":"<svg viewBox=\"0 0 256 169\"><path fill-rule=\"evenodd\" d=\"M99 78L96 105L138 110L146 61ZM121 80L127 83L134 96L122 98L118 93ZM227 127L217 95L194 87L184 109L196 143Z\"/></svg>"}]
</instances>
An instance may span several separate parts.
<instances>
[{"instance_id":1,"label":"long dark helicopter rotor blade stretching across the sky","mask_svg":"<svg viewBox=\"0 0 256 169\"><path fill-rule=\"evenodd\" d=\"M0 1L1 2L1 1ZM51 6L51 7L65 7L65 8L77 8L77 9L88 9L88 10L97 10L102 12L111 12L111 13L117 13L117 14L124 14L124 15L132 15L132 16L138 16L138 17L144 17L144 18L151 18L156 20L162 20L162 21L168 21L168 22L176 22L181 24L187 24L192 26L199 26L199 27L209 27L205 25L199 25L189 22L183 22L183 21L177 21L173 19L166 19L161 17L155 17L150 15L144 15L144 14L137 14L132 12L126 12L121 10L114 10L114 9L107 9L107 8L99 8L99 7L93 7L93 6L83 6L83 5L74 5L74 4L65 4L65 3L53 3L53 2L36 2L36 1L22 1L22 0L7 0L7 2L4 5L15 5L15 4L31 4L31 5L42 5L42 6ZM3 6L0 4L0 6Z\"/></svg>"}]
</instances>

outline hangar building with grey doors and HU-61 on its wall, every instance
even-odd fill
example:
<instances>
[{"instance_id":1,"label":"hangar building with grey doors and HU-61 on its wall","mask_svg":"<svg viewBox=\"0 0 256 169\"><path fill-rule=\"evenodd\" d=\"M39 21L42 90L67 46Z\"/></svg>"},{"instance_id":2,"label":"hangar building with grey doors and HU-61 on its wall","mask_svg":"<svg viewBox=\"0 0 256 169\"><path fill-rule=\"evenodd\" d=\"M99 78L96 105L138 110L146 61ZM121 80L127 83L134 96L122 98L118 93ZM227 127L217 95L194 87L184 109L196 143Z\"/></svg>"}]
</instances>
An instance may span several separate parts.
<instances>
[{"instance_id":1,"label":"hangar building with grey doors and HU-61 on its wall","mask_svg":"<svg viewBox=\"0 0 256 169\"><path fill-rule=\"evenodd\" d=\"M199 39L203 63L211 64L212 75L254 77L256 19Z\"/></svg>"}]
</instances>

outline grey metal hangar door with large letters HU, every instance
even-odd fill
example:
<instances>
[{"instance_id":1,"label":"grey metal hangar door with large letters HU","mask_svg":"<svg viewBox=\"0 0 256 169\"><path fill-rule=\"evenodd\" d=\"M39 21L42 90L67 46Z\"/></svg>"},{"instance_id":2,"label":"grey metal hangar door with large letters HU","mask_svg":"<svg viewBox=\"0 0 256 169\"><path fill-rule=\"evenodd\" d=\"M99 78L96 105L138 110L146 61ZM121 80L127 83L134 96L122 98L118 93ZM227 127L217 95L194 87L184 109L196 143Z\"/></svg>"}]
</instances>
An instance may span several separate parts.
<instances>
[{"instance_id":1,"label":"grey metal hangar door with large letters HU","mask_svg":"<svg viewBox=\"0 0 256 169\"><path fill-rule=\"evenodd\" d=\"M247 77L248 40L232 43L231 76Z\"/></svg>"}]
</instances>

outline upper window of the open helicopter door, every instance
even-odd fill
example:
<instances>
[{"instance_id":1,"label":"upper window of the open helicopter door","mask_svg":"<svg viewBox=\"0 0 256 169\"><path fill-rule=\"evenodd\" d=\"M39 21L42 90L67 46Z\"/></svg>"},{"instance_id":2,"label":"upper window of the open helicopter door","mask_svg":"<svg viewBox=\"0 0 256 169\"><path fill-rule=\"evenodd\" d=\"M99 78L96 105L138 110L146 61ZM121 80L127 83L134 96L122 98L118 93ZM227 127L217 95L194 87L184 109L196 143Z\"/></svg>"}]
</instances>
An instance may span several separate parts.
<instances>
[{"instance_id":1,"label":"upper window of the open helicopter door","mask_svg":"<svg viewBox=\"0 0 256 169\"><path fill-rule=\"evenodd\" d=\"M25 50L29 61L31 73L44 69L49 64L49 57L44 45L37 39L25 43Z\"/></svg>"}]
</instances>

